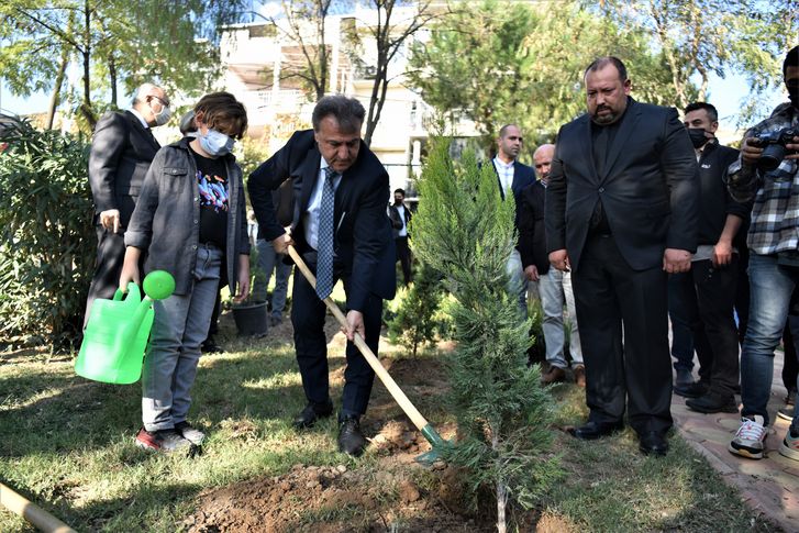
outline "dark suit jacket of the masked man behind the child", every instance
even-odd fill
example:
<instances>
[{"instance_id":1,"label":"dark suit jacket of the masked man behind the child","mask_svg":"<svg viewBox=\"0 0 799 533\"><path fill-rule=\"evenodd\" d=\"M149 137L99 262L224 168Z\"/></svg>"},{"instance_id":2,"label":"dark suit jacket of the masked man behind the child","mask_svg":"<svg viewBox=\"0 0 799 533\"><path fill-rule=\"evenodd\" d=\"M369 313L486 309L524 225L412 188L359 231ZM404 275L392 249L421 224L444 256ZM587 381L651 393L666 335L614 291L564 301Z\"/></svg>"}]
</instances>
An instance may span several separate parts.
<instances>
[{"instance_id":1,"label":"dark suit jacket of the masked man behind the child","mask_svg":"<svg viewBox=\"0 0 799 533\"><path fill-rule=\"evenodd\" d=\"M120 223L127 223L138 191L160 145L130 111L103 114L95 126L89 154L89 184L95 213L119 209Z\"/></svg>"}]
</instances>

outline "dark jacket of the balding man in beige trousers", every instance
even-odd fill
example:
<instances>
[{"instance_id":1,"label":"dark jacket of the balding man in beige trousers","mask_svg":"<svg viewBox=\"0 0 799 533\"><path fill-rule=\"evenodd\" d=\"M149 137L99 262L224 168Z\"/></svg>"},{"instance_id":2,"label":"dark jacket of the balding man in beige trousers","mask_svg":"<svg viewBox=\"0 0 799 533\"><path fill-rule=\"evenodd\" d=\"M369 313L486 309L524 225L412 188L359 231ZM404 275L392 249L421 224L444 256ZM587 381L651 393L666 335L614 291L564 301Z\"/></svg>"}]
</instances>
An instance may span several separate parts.
<instances>
[{"instance_id":1,"label":"dark jacket of the balding man in beige trousers","mask_svg":"<svg viewBox=\"0 0 799 533\"><path fill-rule=\"evenodd\" d=\"M546 253L546 234L544 231L544 198L546 187L535 181L522 189L521 200L517 206L519 213L519 252L524 268L535 265L540 275L550 270L550 258Z\"/></svg>"}]
</instances>

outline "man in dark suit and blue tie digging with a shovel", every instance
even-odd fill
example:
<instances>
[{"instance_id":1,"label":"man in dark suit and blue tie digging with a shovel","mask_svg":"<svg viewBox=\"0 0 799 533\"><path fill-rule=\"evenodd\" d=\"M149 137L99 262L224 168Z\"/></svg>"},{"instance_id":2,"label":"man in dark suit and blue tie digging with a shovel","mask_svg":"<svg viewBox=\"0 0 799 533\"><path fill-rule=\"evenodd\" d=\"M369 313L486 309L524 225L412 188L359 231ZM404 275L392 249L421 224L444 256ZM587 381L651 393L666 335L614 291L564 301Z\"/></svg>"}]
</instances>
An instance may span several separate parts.
<instances>
[{"instance_id":1,"label":"man in dark suit and blue tie digging with a shovel","mask_svg":"<svg viewBox=\"0 0 799 533\"><path fill-rule=\"evenodd\" d=\"M317 290L295 276L291 323L308 404L295 426L312 426L333 413L329 392L325 307L335 279L344 280L347 308L347 366L339 448L359 455L366 445L359 419L366 412L375 374L353 344L357 332L377 353L382 300L396 290L395 247L386 215L386 169L360 140L365 111L341 95L322 98L313 110L313 130L296 132L286 145L249 177L249 198L260 236L277 253L297 247L317 275ZM292 220L278 223L271 191L290 179ZM290 234L284 230L290 225Z\"/></svg>"}]
</instances>

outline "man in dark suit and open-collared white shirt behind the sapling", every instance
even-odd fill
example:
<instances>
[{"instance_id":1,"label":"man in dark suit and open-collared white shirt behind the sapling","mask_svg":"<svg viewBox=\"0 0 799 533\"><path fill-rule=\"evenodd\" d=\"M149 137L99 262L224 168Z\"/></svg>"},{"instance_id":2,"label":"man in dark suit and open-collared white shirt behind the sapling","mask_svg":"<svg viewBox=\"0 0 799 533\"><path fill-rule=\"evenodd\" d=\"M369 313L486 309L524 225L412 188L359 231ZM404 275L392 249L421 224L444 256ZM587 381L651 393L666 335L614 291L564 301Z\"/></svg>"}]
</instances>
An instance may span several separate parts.
<instances>
[{"instance_id":1,"label":"man in dark suit and open-collared white shirt behind the sapling","mask_svg":"<svg viewBox=\"0 0 799 533\"><path fill-rule=\"evenodd\" d=\"M519 163L519 152L522 148L522 132L515 124L506 124L499 130L497 138L497 156L491 160L497 171L497 185L502 200L510 192L513 195L515 204L521 204L522 190L535 182L535 171L532 167ZM515 213L515 226L519 231L519 209ZM519 307L526 317L528 313L528 282L524 277L519 245L513 248L508 258L507 273L509 277L509 290L519 296Z\"/></svg>"}]
</instances>

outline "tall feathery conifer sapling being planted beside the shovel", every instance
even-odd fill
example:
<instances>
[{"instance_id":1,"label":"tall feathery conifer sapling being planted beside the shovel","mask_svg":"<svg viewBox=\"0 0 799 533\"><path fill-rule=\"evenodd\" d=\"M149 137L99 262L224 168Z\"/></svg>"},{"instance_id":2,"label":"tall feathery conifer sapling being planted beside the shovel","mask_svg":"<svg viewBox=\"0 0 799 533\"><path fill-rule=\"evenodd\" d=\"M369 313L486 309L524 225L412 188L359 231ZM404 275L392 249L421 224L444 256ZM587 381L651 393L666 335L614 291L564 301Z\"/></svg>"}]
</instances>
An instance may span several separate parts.
<instances>
[{"instance_id":1,"label":"tall feathery conifer sapling being planted beside the shovel","mask_svg":"<svg viewBox=\"0 0 799 533\"><path fill-rule=\"evenodd\" d=\"M419 191L414 252L444 275L456 300L448 401L459 438L442 452L466 469L475 493L492 489L503 532L508 501L530 509L561 474L552 400L540 367L526 365L531 323L507 290L514 206L501 200L491 165L479 168L474 153L453 162L445 140L433 143Z\"/></svg>"}]
</instances>

